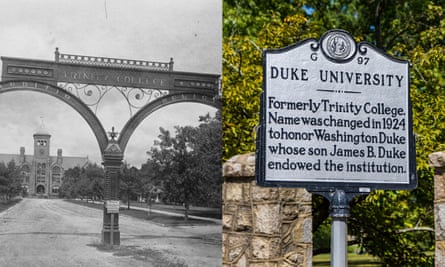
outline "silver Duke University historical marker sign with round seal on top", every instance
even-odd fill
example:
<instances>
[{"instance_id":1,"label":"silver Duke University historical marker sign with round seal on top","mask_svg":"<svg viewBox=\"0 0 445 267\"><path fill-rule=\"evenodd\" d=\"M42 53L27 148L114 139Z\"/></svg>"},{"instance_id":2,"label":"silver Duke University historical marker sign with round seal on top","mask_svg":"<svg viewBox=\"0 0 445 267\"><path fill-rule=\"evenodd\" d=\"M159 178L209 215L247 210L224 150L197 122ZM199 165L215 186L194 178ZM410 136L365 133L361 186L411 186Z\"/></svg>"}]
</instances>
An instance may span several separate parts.
<instances>
[{"instance_id":1,"label":"silver Duke University historical marker sign with round seal on top","mask_svg":"<svg viewBox=\"0 0 445 267\"><path fill-rule=\"evenodd\" d=\"M332 30L263 53L257 181L330 190L417 184L409 62Z\"/></svg>"}]
</instances>

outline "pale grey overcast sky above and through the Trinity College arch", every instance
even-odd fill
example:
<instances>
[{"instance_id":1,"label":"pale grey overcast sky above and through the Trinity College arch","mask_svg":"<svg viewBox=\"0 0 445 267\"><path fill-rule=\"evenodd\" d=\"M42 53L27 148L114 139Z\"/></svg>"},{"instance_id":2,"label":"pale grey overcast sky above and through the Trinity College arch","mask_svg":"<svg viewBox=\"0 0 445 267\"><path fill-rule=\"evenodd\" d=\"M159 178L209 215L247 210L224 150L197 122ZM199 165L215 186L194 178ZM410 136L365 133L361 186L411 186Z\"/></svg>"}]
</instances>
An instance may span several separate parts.
<instances>
[{"instance_id":1,"label":"pale grey overcast sky above and through the Trinity College arch","mask_svg":"<svg viewBox=\"0 0 445 267\"><path fill-rule=\"evenodd\" d=\"M54 60L61 53L168 62L177 71L221 74L221 0L14 0L0 2L0 56ZM215 112L201 104L175 104L146 118L129 141L125 160L145 162L159 127L198 125ZM101 102L106 131L129 119L119 93ZM51 154L88 156L100 163L99 146L84 119L54 97L29 91L0 94L0 153L33 153L32 135L43 117ZM218 144L219 145L219 144Z\"/></svg>"}]
</instances>

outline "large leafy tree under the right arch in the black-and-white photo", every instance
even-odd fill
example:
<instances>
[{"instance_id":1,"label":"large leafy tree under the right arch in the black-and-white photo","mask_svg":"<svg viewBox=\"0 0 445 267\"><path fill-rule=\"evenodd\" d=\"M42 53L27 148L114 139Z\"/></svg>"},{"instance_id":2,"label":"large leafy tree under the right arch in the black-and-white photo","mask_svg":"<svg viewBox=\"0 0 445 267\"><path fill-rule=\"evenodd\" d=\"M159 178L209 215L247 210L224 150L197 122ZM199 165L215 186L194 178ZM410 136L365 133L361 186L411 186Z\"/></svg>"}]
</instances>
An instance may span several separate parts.
<instances>
[{"instance_id":1,"label":"large leafy tree under the right arch in the black-and-white photo","mask_svg":"<svg viewBox=\"0 0 445 267\"><path fill-rule=\"evenodd\" d=\"M198 127L175 127L175 135L160 128L149 151L155 180L161 181L163 197L184 204L188 219L190 204L220 203L220 115L201 117ZM143 167L143 168L148 168ZM212 203L213 202L213 203Z\"/></svg>"}]
</instances>

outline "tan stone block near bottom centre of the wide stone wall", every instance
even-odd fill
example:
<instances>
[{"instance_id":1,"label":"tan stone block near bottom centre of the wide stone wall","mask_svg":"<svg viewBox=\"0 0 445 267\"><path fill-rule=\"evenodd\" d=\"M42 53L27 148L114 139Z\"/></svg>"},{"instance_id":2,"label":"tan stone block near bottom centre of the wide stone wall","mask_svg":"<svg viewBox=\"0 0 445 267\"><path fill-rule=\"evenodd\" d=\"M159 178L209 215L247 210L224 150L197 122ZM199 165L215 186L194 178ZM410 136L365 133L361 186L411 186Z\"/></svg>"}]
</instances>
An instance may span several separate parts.
<instances>
[{"instance_id":1,"label":"tan stone block near bottom centre of the wide stone wall","mask_svg":"<svg viewBox=\"0 0 445 267\"><path fill-rule=\"evenodd\" d=\"M272 260L280 256L280 238L255 236L251 242L254 259Z\"/></svg>"}]
</instances>

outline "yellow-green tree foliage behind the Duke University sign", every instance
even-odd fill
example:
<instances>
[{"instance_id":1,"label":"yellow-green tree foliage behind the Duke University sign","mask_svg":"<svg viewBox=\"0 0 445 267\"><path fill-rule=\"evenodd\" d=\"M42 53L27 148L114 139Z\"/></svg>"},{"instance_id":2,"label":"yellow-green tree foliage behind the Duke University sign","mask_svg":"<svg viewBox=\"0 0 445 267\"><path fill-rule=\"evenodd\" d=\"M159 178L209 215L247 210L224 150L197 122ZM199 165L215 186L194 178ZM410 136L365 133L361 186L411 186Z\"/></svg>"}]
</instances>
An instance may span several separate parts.
<instances>
[{"instance_id":1,"label":"yellow-green tree foliage behind the Duke University sign","mask_svg":"<svg viewBox=\"0 0 445 267\"><path fill-rule=\"evenodd\" d=\"M343 29L357 42L412 64L410 95L418 187L376 190L351 203L350 234L384 266L432 266L433 171L428 154L445 148L444 0L224 0L223 159L255 151L262 51ZM313 197L314 252L326 246L329 203ZM318 240L318 241L315 241Z\"/></svg>"}]
</instances>

